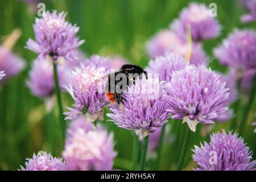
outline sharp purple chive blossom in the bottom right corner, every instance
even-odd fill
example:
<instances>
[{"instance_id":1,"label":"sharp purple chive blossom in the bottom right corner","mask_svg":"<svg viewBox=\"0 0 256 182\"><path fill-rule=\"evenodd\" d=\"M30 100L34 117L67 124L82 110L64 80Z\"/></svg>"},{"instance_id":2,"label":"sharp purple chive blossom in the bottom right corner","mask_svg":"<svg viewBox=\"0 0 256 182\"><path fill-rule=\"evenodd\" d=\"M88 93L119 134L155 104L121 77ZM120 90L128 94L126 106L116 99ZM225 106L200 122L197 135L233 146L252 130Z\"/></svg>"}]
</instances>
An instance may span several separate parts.
<instances>
[{"instance_id":1,"label":"sharp purple chive blossom in the bottom right corner","mask_svg":"<svg viewBox=\"0 0 256 182\"><path fill-rule=\"evenodd\" d=\"M238 135L222 133L211 135L210 143L195 146L193 159L197 171L250 171L255 169L256 160L251 161L252 151Z\"/></svg>"}]
</instances>

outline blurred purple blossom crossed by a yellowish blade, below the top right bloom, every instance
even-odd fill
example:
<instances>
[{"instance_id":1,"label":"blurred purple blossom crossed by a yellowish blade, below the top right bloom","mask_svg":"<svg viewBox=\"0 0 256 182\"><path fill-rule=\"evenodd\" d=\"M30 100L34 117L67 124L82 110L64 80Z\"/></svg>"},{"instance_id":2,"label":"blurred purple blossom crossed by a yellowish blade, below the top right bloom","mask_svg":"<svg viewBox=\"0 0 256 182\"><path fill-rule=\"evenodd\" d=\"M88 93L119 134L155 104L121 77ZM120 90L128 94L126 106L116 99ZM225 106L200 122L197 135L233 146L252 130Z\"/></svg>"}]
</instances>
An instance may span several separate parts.
<instances>
[{"instance_id":1,"label":"blurred purple blossom crossed by a yellowish blade, below the top right bloom","mask_svg":"<svg viewBox=\"0 0 256 182\"><path fill-rule=\"evenodd\" d=\"M173 52L177 53L178 55L181 55L186 59L187 54L189 52L189 44L183 43L179 46L176 46ZM189 63L194 64L195 66L201 64L208 64L208 59L206 57L205 51L203 51L203 48L200 44L193 43Z\"/></svg>"}]
</instances>

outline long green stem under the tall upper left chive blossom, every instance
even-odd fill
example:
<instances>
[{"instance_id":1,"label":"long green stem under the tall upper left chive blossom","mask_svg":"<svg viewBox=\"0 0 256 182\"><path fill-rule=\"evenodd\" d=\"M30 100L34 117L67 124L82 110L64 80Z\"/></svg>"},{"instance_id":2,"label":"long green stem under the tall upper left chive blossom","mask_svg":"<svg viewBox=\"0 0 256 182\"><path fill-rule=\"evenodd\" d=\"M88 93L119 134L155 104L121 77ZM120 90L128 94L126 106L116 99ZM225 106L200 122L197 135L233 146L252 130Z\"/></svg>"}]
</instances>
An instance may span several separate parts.
<instances>
[{"instance_id":1,"label":"long green stem under the tall upper left chive blossom","mask_svg":"<svg viewBox=\"0 0 256 182\"><path fill-rule=\"evenodd\" d=\"M55 94L57 97L58 103L58 110L59 110L59 126L61 127L61 141L62 141L62 148L64 147L65 142L65 128L66 123L63 116L63 109L62 109L62 102L61 102L61 91L59 89L59 80L57 74L57 65L53 62L53 72L54 72L54 86L55 86Z\"/></svg>"}]
</instances>

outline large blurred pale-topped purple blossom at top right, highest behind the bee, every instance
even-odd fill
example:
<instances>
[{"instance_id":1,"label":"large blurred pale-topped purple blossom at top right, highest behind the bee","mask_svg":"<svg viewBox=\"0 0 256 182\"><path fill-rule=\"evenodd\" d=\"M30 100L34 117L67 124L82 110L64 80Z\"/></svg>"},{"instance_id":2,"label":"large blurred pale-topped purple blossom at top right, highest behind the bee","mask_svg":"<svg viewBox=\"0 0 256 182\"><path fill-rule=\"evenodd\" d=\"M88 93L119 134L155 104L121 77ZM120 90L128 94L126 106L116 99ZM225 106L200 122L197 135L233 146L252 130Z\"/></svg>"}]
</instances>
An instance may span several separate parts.
<instances>
[{"instance_id":1,"label":"large blurred pale-topped purple blossom at top right, highest behind the bee","mask_svg":"<svg viewBox=\"0 0 256 182\"><path fill-rule=\"evenodd\" d=\"M188 8L181 11L179 19L174 20L171 29L182 40L186 40L187 26L190 27L194 42L216 38L221 31L221 26L210 13L207 6L191 3Z\"/></svg>"}]
</instances>

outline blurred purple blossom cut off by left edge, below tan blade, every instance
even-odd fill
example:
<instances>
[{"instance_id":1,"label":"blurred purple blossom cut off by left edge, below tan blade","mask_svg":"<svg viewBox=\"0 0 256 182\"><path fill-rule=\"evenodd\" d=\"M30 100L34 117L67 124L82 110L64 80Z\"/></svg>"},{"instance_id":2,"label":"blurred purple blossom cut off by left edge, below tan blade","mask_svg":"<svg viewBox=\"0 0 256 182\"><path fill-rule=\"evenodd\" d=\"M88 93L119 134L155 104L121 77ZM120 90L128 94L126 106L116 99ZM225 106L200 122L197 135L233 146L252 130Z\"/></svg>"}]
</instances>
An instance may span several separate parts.
<instances>
[{"instance_id":1,"label":"blurred purple blossom cut off by left edge, below tan blade","mask_svg":"<svg viewBox=\"0 0 256 182\"><path fill-rule=\"evenodd\" d=\"M25 61L13 55L8 49L0 46L0 68L5 72L2 81L17 75L25 68Z\"/></svg>"}]
</instances>

